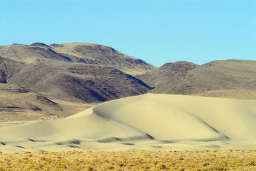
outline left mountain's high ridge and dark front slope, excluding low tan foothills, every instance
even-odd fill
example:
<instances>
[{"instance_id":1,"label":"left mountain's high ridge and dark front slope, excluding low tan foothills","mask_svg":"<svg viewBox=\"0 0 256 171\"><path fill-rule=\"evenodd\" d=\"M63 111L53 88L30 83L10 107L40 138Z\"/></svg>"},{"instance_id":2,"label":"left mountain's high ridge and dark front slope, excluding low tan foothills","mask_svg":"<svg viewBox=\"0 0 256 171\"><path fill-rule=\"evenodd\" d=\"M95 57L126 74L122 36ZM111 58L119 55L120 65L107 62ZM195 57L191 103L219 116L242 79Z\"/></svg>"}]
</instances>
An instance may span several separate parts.
<instances>
[{"instance_id":1,"label":"left mountain's high ridge and dark front slope, excluding low tan foothills","mask_svg":"<svg viewBox=\"0 0 256 171\"><path fill-rule=\"evenodd\" d=\"M151 88L128 73L156 67L111 47L92 43L0 46L0 82L49 98L100 102L147 93ZM126 73L124 72L126 71Z\"/></svg>"}]
</instances>

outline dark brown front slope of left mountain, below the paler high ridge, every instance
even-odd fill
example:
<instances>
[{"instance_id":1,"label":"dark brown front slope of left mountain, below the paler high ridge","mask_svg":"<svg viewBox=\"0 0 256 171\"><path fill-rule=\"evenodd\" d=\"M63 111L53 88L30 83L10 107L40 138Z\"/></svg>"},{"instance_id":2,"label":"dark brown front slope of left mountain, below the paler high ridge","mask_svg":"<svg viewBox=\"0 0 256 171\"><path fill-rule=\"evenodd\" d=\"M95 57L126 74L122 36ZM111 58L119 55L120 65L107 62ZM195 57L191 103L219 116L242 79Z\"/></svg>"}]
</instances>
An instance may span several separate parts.
<instances>
[{"instance_id":1,"label":"dark brown front slope of left mountain, below the paler high ridge","mask_svg":"<svg viewBox=\"0 0 256 171\"><path fill-rule=\"evenodd\" d=\"M39 60L36 64L22 64L3 57L1 60L0 68L4 68L2 82L19 85L49 98L91 103L144 94L150 90L141 80L110 66L52 59L48 59L51 63Z\"/></svg>"}]
</instances>

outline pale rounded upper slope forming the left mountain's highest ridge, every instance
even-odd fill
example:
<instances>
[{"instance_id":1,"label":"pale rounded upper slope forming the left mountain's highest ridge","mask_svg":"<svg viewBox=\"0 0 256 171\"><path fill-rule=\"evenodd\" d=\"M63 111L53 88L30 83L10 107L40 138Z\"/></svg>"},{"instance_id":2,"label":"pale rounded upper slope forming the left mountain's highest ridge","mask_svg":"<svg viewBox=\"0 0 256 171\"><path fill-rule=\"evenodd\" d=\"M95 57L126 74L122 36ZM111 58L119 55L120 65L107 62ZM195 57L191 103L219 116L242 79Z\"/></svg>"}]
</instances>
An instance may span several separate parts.
<instances>
[{"instance_id":1,"label":"pale rounded upper slope forming the left mountain's highest ridge","mask_svg":"<svg viewBox=\"0 0 256 171\"><path fill-rule=\"evenodd\" d=\"M131 75L138 75L156 67L141 59L126 56L114 48L93 43L52 44L50 47L63 56L81 63L113 66Z\"/></svg>"}]
</instances>

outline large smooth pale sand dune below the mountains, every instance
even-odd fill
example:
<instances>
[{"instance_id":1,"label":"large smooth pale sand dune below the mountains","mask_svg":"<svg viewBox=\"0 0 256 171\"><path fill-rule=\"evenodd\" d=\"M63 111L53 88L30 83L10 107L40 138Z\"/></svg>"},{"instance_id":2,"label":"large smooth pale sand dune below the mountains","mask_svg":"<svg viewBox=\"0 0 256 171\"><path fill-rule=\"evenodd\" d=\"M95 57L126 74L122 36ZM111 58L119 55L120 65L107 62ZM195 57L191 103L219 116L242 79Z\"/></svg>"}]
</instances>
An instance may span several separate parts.
<instances>
[{"instance_id":1,"label":"large smooth pale sand dune below the mountains","mask_svg":"<svg viewBox=\"0 0 256 171\"><path fill-rule=\"evenodd\" d=\"M254 149L256 101L144 94L0 128L0 151Z\"/></svg>"}]
</instances>

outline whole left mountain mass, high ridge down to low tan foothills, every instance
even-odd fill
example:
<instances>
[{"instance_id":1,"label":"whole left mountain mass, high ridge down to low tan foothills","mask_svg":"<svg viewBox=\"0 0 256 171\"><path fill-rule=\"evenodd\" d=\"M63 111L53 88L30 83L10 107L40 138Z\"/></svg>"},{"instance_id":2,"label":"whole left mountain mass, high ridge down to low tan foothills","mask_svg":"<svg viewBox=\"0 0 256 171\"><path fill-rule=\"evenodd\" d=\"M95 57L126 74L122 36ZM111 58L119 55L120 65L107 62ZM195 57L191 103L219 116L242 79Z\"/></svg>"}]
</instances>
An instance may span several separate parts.
<instances>
[{"instance_id":1,"label":"whole left mountain mass, high ridge down to low tan foothills","mask_svg":"<svg viewBox=\"0 0 256 171\"><path fill-rule=\"evenodd\" d=\"M152 88L132 75L154 69L92 43L0 46L0 120L58 118L145 94Z\"/></svg>"}]
</instances>

